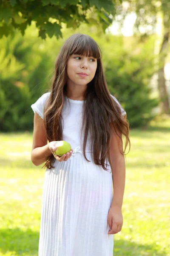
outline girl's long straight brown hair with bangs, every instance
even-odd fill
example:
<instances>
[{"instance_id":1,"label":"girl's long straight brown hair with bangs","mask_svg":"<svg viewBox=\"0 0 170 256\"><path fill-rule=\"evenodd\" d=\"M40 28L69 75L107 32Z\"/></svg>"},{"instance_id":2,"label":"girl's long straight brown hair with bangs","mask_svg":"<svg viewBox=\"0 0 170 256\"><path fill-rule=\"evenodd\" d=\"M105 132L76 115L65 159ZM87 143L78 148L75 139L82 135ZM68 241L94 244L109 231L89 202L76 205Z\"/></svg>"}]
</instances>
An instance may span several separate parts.
<instances>
[{"instance_id":1,"label":"girl's long straight brown hair with bangs","mask_svg":"<svg viewBox=\"0 0 170 256\"><path fill-rule=\"evenodd\" d=\"M55 62L55 74L51 84L51 93L46 102L44 112L44 125L46 135L49 142L63 140L62 137L62 108L64 97L67 91L67 62L72 54L93 56L97 59L97 68L94 79L87 85L87 90L84 95L83 115L82 115L82 130L84 130L83 155L88 138L88 132L91 134L91 150L94 152L93 160L96 165L105 167L105 160L111 158L109 154L111 142L111 128L113 127L116 134L122 140L125 136L125 150L129 140L129 123L121 116L119 105L111 97L108 85L106 83L103 67L102 67L102 52L89 35L74 34L69 37L62 45L60 52ZM121 134L121 135L120 135ZM125 153L123 150L123 153ZM52 164L55 158L51 155L46 163L42 166L48 169L54 168ZM89 161L90 162L90 161ZM107 166L107 164L106 164Z\"/></svg>"}]
</instances>

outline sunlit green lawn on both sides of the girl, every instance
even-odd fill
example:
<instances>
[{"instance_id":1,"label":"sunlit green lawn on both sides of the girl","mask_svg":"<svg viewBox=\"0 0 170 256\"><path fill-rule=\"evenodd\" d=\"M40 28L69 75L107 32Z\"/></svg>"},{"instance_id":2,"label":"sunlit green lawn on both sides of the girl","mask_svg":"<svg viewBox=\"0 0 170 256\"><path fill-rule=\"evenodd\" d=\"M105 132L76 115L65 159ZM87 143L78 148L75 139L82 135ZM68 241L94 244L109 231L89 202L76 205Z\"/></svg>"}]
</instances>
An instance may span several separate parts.
<instances>
[{"instance_id":1,"label":"sunlit green lawn on both sides of the girl","mask_svg":"<svg viewBox=\"0 0 170 256\"><path fill-rule=\"evenodd\" d=\"M168 256L170 119L131 130L130 141L114 256ZM45 169L31 163L32 133L1 133L0 142L0 256L37 256Z\"/></svg>"}]
</instances>

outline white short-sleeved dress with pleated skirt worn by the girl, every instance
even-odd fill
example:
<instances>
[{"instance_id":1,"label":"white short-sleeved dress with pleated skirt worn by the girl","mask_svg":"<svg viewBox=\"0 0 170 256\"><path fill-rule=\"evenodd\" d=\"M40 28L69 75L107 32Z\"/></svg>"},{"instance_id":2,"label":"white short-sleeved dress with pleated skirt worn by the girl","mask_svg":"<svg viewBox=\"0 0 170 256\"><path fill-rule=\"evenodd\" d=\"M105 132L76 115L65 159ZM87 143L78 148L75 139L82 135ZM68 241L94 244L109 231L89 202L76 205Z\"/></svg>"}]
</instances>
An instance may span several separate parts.
<instances>
[{"instance_id":1,"label":"white short-sleeved dress with pleated skirt worn by the girl","mask_svg":"<svg viewBox=\"0 0 170 256\"><path fill-rule=\"evenodd\" d=\"M48 96L43 94L31 105L41 118ZM113 256L113 235L108 235L107 221L113 197L112 173L110 166L107 172L94 164L89 142L86 156L91 162L82 154L83 102L65 98L63 140L74 151L67 161L56 160L54 168L45 171L39 256Z\"/></svg>"}]
</instances>

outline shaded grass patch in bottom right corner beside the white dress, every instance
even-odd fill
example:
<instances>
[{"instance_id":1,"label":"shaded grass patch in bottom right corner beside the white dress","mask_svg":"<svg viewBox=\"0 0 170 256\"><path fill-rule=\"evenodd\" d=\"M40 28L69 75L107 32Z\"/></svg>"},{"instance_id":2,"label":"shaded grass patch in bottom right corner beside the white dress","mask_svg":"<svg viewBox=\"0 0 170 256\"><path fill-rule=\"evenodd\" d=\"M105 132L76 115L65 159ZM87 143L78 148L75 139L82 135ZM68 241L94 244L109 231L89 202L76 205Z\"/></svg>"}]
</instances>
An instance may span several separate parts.
<instances>
[{"instance_id":1,"label":"shaded grass patch in bottom right corner beside the white dress","mask_svg":"<svg viewBox=\"0 0 170 256\"><path fill-rule=\"evenodd\" d=\"M114 239L114 256L168 256L164 250L158 251L157 244L138 244L135 242Z\"/></svg>"}]
</instances>

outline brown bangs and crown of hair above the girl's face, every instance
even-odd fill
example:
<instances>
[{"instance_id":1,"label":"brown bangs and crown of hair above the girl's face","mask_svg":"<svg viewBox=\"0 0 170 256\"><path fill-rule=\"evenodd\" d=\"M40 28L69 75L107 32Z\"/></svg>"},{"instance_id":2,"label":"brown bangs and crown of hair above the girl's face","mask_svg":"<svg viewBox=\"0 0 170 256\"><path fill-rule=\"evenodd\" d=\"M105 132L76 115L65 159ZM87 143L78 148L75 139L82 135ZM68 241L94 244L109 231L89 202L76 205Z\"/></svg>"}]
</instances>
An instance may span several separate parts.
<instances>
[{"instance_id":1,"label":"brown bangs and crown of hair above the girl's face","mask_svg":"<svg viewBox=\"0 0 170 256\"><path fill-rule=\"evenodd\" d=\"M76 38L73 42L73 47L70 52L70 55L72 54L77 54L77 55L82 55L86 57L94 57L96 59L101 58L100 48L96 44L96 42L87 36L81 36L79 38ZM101 53L102 54L102 53Z\"/></svg>"}]
</instances>

